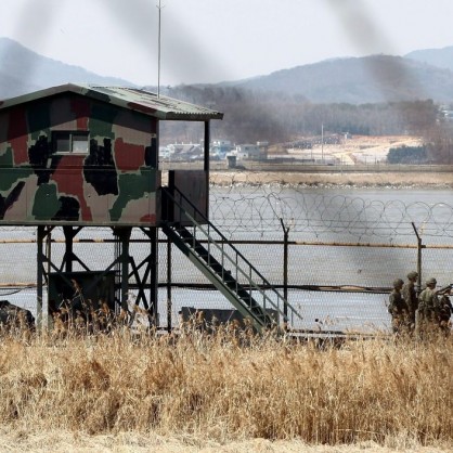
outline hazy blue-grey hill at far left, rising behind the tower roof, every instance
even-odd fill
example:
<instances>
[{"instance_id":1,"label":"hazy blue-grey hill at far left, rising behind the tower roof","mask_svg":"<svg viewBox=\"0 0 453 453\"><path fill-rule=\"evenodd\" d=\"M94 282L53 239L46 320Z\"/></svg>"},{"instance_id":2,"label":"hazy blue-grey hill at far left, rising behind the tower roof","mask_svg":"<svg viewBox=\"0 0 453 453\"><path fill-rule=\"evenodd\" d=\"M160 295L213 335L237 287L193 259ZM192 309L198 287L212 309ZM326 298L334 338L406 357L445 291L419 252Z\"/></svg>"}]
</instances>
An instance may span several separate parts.
<instances>
[{"instance_id":1,"label":"hazy blue-grey hill at far left, rising behind the tower roof","mask_svg":"<svg viewBox=\"0 0 453 453\"><path fill-rule=\"evenodd\" d=\"M0 99L67 82L133 86L127 80L99 76L48 59L12 39L0 38Z\"/></svg>"}]
</instances>

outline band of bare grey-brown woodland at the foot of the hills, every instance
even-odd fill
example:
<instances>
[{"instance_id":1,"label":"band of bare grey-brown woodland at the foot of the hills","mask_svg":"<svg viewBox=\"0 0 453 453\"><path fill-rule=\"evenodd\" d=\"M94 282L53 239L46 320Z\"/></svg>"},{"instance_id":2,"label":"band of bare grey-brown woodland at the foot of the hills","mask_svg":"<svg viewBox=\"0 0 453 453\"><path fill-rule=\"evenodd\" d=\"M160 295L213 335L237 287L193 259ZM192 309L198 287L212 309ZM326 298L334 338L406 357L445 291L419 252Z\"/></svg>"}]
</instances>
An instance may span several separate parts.
<instances>
[{"instance_id":1,"label":"band of bare grey-brown woodland at the foot of the hills","mask_svg":"<svg viewBox=\"0 0 453 453\"><path fill-rule=\"evenodd\" d=\"M322 125L332 133L427 137L428 131L436 129L438 117L438 107L432 100L313 104L300 94L203 85L167 88L163 94L223 112L223 120L211 124L212 137L235 143L289 142L302 135L319 135ZM173 141L194 140L200 135L192 125L163 127L173 135ZM436 140L427 140L427 143L435 143L429 153L432 152L436 158L450 155L453 150L445 144L444 138L440 139L438 132L435 135Z\"/></svg>"}]
</instances>

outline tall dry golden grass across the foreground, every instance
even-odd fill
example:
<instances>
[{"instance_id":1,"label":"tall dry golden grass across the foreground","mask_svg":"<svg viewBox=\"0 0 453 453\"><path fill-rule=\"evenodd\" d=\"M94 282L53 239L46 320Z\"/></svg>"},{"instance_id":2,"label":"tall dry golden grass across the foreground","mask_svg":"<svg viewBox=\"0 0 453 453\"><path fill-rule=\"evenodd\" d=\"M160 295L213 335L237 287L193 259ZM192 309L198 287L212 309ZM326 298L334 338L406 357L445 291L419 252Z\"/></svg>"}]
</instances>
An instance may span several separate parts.
<instances>
[{"instance_id":1,"label":"tall dry golden grass across the foreground","mask_svg":"<svg viewBox=\"0 0 453 453\"><path fill-rule=\"evenodd\" d=\"M0 423L217 442L453 448L453 342L340 347L219 328L0 341Z\"/></svg>"}]
</instances>

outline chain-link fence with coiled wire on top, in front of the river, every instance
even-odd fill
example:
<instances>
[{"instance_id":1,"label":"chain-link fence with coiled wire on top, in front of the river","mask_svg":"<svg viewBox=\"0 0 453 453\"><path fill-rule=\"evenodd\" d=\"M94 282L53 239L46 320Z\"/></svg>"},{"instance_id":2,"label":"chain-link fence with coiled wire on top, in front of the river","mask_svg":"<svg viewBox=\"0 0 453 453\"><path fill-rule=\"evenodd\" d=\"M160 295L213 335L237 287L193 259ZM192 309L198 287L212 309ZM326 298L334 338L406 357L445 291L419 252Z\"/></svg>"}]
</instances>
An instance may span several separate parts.
<instances>
[{"instance_id":1,"label":"chain-link fence with coiled wire on top, in front of the river","mask_svg":"<svg viewBox=\"0 0 453 453\"><path fill-rule=\"evenodd\" d=\"M287 296L303 329L387 329L391 282L419 270L422 284L451 283L453 206L448 191L260 186L211 187L211 221ZM62 262L62 229L52 231L52 261ZM0 299L36 312L36 229L0 231ZM113 261L109 229L85 228L74 253L92 271ZM151 253L147 236L132 232L135 262ZM74 270L83 270L77 261ZM159 233L158 313L161 327L178 326L182 307L231 309L206 276ZM130 299L135 297L131 280Z\"/></svg>"}]
</instances>

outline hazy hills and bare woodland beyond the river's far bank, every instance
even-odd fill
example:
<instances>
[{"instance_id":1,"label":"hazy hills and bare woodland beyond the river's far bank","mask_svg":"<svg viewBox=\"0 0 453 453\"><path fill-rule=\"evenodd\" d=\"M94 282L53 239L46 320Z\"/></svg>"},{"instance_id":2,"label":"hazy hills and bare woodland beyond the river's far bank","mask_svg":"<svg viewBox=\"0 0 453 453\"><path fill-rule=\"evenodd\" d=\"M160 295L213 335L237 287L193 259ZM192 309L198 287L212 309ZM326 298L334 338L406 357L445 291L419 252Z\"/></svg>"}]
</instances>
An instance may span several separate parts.
<instances>
[{"instance_id":1,"label":"hazy hills and bare woodland beyond the river's far bank","mask_svg":"<svg viewBox=\"0 0 453 453\"><path fill-rule=\"evenodd\" d=\"M0 99L68 81L132 86L38 55L7 38L0 38ZM156 87L148 90L156 92ZM215 140L287 143L321 135L321 130L326 135L413 134L424 138L432 160L452 160L453 122L443 112L453 112L453 73L415 60L337 59L250 80L160 87L160 93L223 112L224 119L211 125ZM161 130L172 141L198 142L202 135L186 122L164 122Z\"/></svg>"}]
</instances>

